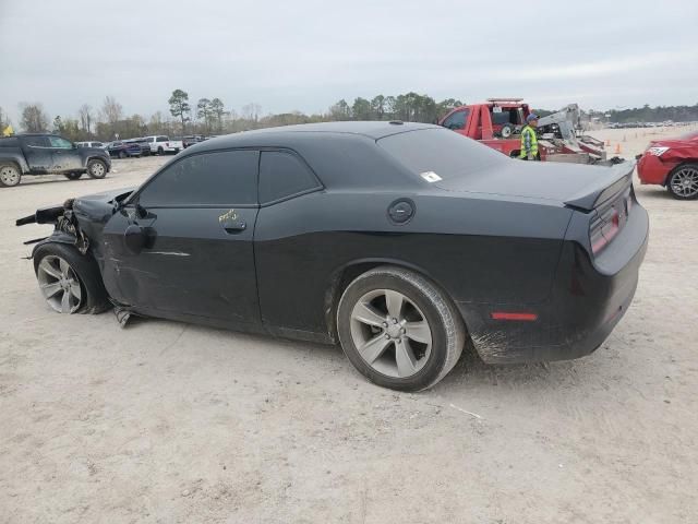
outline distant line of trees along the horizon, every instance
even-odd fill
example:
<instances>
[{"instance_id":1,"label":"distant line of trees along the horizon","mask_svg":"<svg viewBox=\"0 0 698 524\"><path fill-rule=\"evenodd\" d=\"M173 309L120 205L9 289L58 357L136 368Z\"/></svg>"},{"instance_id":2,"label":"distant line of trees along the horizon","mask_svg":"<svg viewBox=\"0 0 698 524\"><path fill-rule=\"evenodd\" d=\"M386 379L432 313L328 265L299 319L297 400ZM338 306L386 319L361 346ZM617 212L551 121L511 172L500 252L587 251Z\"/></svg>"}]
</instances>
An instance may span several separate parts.
<instances>
[{"instance_id":1,"label":"distant line of trees along the horizon","mask_svg":"<svg viewBox=\"0 0 698 524\"><path fill-rule=\"evenodd\" d=\"M52 120L40 103L20 105L19 128L24 132L55 132L73 141L110 141L143 136L147 134L225 134L250 129L296 123L337 120L402 120L435 122L454 107L464 103L457 98L436 102L429 95L406 93L401 95L376 95L372 98L357 97L349 103L340 99L322 114L306 115L300 111L262 115L262 106L250 103L238 114L227 108L219 97L204 97L190 103L189 94L174 90L168 99L169 111L156 111L149 117L139 114L128 116L123 106L113 97L106 96L101 106L94 108L83 104L74 115L59 115ZM541 115L550 114L537 109ZM696 121L698 104L695 106L645 105L641 108L588 111L588 116L600 116L611 122L629 121ZM0 130L12 122L0 107Z\"/></svg>"}]
</instances>

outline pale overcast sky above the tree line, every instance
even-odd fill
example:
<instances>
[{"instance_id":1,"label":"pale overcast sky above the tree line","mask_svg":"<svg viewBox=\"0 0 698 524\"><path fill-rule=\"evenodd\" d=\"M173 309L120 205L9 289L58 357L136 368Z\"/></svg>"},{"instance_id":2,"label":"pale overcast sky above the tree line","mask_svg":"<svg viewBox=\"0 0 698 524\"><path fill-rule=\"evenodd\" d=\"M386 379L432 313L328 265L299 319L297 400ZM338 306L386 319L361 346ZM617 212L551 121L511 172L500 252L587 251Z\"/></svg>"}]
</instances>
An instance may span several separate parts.
<instances>
[{"instance_id":1,"label":"pale overcast sky above the tree line","mask_svg":"<svg viewBox=\"0 0 698 524\"><path fill-rule=\"evenodd\" d=\"M176 88L240 112L414 91L611 109L698 103L698 2L0 0L0 107L146 118Z\"/></svg>"}]
</instances>

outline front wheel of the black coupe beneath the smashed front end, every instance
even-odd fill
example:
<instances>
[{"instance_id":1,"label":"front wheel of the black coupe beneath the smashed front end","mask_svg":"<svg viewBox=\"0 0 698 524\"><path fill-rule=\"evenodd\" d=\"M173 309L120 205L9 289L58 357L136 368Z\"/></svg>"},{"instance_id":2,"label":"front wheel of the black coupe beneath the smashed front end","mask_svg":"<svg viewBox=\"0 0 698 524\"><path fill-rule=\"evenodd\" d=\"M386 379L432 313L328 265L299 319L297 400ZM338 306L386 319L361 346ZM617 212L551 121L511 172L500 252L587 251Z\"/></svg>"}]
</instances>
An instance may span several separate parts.
<instances>
[{"instance_id":1,"label":"front wheel of the black coupe beneath the smashed front end","mask_svg":"<svg viewBox=\"0 0 698 524\"><path fill-rule=\"evenodd\" d=\"M99 313L109 307L97 262L72 246L39 246L34 253L34 272L44 298L59 313Z\"/></svg>"}]
</instances>

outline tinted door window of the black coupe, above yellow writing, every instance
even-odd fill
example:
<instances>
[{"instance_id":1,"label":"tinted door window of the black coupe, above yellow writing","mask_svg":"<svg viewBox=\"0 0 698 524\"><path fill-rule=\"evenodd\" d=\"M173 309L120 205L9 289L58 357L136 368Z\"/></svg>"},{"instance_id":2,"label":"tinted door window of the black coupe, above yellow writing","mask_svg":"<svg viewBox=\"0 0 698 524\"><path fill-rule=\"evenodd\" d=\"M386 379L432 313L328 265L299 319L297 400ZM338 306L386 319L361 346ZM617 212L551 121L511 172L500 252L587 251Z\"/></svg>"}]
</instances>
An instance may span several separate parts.
<instances>
[{"instance_id":1,"label":"tinted door window of the black coupe, above yellow writing","mask_svg":"<svg viewBox=\"0 0 698 524\"><path fill-rule=\"evenodd\" d=\"M256 151L216 151L172 164L139 195L145 209L257 203Z\"/></svg>"}]
</instances>

